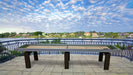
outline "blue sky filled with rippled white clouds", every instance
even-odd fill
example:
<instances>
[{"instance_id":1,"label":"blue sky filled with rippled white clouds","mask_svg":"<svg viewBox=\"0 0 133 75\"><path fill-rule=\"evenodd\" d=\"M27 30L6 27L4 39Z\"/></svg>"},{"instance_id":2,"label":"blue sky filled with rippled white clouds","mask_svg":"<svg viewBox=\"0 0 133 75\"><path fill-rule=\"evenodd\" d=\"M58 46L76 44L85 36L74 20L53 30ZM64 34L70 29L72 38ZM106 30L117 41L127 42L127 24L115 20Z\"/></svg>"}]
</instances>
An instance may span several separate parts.
<instances>
[{"instance_id":1,"label":"blue sky filled with rippled white clouds","mask_svg":"<svg viewBox=\"0 0 133 75\"><path fill-rule=\"evenodd\" d=\"M133 32L133 0L0 0L2 32Z\"/></svg>"}]
</instances>

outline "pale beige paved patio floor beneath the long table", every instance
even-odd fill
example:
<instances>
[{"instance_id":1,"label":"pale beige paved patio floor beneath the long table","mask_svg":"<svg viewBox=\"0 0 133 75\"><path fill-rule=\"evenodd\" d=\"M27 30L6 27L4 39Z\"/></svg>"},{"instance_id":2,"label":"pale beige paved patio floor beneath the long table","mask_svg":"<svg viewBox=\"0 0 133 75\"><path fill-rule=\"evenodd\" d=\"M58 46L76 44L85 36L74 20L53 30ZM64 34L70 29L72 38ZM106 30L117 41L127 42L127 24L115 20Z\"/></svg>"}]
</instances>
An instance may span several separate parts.
<instances>
[{"instance_id":1,"label":"pale beige paved patio floor beneath the long table","mask_svg":"<svg viewBox=\"0 0 133 75\"><path fill-rule=\"evenodd\" d=\"M110 69L103 70L97 55L71 54L69 69L64 69L64 55L39 55L31 69L25 68L24 57L16 57L0 64L0 75L133 75L133 62L111 56Z\"/></svg>"}]
</instances>

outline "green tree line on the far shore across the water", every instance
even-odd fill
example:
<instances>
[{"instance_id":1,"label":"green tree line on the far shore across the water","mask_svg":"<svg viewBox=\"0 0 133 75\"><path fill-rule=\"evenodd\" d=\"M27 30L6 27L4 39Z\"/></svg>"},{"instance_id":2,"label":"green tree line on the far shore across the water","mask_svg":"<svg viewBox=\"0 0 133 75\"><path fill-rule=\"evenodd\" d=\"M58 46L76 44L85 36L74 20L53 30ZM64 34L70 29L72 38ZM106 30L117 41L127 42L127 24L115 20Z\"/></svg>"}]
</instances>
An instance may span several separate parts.
<instances>
[{"instance_id":1,"label":"green tree line on the far shore across the water","mask_svg":"<svg viewBox=\"0 0 133 75\"><path fill-rule=\"evenodd\" d=\"M92 33L97 33L99 38L120 38L119 33L121 32L96 32L96 31L89 31L91 33L90 36L92 36ZM72 35L73 33L74 35ZM46 36L49 36L48 38L92 38L92 37L87 37L84 35L84 31L77 31L77 32L64 32L64 33L44 33L41 31L36 31L36 32L27 32L27 33L16 33L16 32L6 32L6 33L1 33L0 38L21 38L23 34L25 34L28 38L47 38ZM133 32L125 32L132 34ZM31 37L29 37L31 36ZM125 35L124 38L126 38L128 35Z\"/></svg>"}]
</instances>

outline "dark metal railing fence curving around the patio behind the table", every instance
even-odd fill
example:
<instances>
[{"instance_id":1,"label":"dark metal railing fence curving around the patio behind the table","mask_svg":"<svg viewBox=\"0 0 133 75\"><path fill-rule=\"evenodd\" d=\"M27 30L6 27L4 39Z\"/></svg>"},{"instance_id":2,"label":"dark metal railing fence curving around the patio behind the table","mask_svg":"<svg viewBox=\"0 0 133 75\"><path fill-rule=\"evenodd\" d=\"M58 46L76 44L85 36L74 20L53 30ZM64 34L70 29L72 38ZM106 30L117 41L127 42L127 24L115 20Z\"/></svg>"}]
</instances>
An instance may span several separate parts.
<instances>
[{"instance_id":1,"label":"dark metal railing fence curving around the patio behind the table","mask_svg":"<svg viewBox=\"0 0 133 75\"><path fill-rule=\"evenodd\" d=\"M0 63L16 56L23 56L23 52L14 51L15 48L26 44L68 44L68 45L119 45L123 48L120 52L112 52L113 56L128 58L133 61L133 50L128 50L133 45L132 39L19 39L0 41ZM41 52L40 54L61 54L57 52ZM98 52L72 52L72 54L93 54Z\"/></svg>"}]
</instances>

